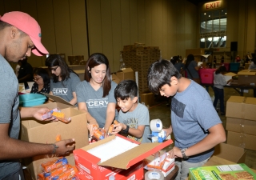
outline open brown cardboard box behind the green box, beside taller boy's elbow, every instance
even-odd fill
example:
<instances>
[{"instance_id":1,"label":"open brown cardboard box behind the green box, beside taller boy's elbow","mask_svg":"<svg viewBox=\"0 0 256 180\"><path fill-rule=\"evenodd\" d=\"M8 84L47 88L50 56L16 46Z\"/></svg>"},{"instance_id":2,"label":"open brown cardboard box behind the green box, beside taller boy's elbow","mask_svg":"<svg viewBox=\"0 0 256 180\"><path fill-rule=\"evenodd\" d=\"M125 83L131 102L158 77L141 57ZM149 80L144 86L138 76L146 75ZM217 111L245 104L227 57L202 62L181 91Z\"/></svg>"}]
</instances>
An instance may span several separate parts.
<instances>
[{"instance_id":1,"label":"open brown cardboard box behind the green box, beside taller boy's elbow","mask_svg":"<svg viewBox=\"0 0 256 180\"><path fill-rule=\"evenodd\" d=\"M226 143L220 143L215 146L214 156L218 158L224 158L230 162L245 163L246 162L246 150L242 147L232 146ZM209 161L211 158L209 159ZM226 163L222 163L226 164Z\"/></svg>"}]
</instances>

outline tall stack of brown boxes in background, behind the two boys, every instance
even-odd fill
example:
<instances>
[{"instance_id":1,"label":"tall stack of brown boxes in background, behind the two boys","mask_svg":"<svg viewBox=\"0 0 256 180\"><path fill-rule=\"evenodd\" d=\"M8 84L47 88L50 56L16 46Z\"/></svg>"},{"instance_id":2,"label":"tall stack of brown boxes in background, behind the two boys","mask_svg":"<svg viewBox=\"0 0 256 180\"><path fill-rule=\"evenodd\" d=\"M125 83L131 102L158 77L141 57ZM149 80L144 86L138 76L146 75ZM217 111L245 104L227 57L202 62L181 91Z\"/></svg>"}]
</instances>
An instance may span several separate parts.
<instances>
[{"instance_id":1,"label":"tall stack of brown boxes in background, behind the two boys","mask_svg":"<svg viewBox=\"0 0 256 180\"><path fill-rule=\"evenodd\" d=\"M154 94L150 93L147 85L147 72L150 65L160 59L161 54L158 46L145 46L136 42L134 45L127 45L121 51L126 66L138 71L138 92L141 102L145 105L154 103Z\"/></svg>"}]
</instances>

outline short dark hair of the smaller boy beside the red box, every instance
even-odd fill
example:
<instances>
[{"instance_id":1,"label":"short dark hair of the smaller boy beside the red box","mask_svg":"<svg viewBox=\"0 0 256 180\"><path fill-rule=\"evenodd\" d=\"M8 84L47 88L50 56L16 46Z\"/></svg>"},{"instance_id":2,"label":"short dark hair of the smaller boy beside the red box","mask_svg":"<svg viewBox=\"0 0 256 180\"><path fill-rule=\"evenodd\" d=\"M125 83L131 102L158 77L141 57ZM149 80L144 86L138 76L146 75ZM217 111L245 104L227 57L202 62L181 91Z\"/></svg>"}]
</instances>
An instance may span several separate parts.
<instances>
[{"instance_id":1,"label":"short dark hair of the smaller boy beside the red box","mask_svg":"<svg viewBox=\"0 0 256 180\"><path fill-rule=\"evenodd\" d=\"M123 80L114 89L114 98L125 100L138 96L138 86L133 80Z\"/></svg>"}]
</instances>

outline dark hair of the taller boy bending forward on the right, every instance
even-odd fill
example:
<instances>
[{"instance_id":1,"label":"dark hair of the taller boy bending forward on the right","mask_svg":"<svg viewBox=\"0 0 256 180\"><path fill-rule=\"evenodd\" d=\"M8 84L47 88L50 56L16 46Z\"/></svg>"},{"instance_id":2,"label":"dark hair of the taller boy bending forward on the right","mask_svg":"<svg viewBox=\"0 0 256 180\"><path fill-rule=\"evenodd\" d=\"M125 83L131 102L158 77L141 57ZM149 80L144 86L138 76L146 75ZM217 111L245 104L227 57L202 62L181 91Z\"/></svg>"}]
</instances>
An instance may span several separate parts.
<instances>
[{"instance_id":1,"label":"dark hair of the taller boy bending forward on the right","mask_svg":"<svg viewBox=\"0 0 256 180\"><path fill-rule=\"evenodd\" d=\"M162 86L168 84L170 86L170 78L182 78L182 74L174 67L174 65L166 59L154 62L148 70L147 80L151 92L158 94Z\"/></svg>"}]
</instances>

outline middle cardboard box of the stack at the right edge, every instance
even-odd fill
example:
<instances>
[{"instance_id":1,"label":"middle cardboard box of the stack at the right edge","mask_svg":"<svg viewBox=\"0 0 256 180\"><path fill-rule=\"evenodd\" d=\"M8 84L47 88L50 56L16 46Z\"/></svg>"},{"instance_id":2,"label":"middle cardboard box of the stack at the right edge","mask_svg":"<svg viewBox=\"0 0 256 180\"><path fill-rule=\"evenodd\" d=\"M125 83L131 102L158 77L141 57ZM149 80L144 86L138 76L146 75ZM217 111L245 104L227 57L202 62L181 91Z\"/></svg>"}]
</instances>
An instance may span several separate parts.
<instances>
[{"instance_id":1,"label":"middle cardboard box of the stack at the right edge","mask_svg":"<svg viewBox=\"0 0 256 180\"><path fill-rule=\"evenodd\" d=\"M256 135L256 121L242 118L226 118L226 130Z\"/></svg>"}]
</instances>

